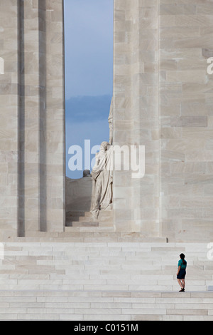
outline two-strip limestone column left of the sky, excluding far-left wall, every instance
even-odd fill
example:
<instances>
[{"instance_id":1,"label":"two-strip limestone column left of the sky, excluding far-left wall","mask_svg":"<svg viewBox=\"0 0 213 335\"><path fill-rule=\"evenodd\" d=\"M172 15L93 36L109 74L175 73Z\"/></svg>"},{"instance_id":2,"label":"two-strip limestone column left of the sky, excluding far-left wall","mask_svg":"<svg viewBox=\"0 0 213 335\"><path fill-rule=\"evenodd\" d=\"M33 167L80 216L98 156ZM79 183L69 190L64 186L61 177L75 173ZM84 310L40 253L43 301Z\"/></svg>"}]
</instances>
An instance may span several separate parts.
<instances>
[{"instance_id":1,"label":"two-strip limestone column left of the sky, excluding far-left wall","mask_svg":"<svg viewBox=\"0 0 213 335\"><path fill-rule=\"evenodd\" d=\"M65 225L63 1L23 1L25 230Z\"/></svg>"}]
</instances>

